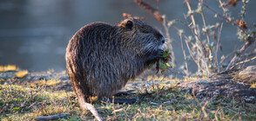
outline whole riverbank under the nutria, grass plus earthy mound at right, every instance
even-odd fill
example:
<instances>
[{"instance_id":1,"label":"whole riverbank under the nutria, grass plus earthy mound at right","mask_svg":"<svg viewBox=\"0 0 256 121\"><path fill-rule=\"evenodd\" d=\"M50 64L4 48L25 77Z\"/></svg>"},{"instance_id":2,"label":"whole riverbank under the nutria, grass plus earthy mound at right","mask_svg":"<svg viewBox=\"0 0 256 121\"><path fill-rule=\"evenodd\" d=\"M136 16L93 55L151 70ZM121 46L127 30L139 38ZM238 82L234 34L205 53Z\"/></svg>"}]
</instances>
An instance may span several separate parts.
<instances>
[{"instance_id":1,"label":"whole riverbank under the nutria, grass plus earthy mound at right","mask_svg":"<svg viewBox=\"0 0 256 121\"><path fill-rule=\"evenodd\" d=\"M113 105L93 101L93 105L104 119L110 120L253 120L255 68L184 80L150 75L127 83L124 91L134 92L133 95L115 97L136 98L138 103ZM3 120L34 120L67 112L67 120L93 120L89 111L79 109L67 74L53 70L26 72L12 68L0 72L0 105Z\"/></svg>"}]
</instances>

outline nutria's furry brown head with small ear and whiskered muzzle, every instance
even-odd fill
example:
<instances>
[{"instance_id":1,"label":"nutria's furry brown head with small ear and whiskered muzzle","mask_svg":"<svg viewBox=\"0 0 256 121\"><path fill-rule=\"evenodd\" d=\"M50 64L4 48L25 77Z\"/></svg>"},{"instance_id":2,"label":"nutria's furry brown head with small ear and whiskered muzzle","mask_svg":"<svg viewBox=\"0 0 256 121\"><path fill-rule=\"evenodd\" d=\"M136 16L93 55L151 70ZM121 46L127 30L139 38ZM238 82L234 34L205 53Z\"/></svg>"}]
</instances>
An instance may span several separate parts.
<instances>
[{"instance_id":1,"label":"nutria's furry brown head with small ear and whiskered muzzle","mask_svg":"<svg viewBox=\"0 0 256 121\"><path fill-rule=\"evenodd\" d=\"M116 25L125 48L136 50L140 54L148 54L162 49L165 38L157 29L135 18L127 18Z\"/></svg>"}]
</instances>

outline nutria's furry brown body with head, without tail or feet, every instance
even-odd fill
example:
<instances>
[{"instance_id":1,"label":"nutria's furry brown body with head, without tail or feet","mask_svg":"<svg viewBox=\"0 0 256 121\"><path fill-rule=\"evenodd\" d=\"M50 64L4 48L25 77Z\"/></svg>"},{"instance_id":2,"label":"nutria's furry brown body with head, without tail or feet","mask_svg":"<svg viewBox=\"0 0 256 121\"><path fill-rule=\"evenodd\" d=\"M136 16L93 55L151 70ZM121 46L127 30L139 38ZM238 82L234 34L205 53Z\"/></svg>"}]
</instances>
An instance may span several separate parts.
<instances>
[{"instance_id":1,"label":"nutria's furry brown body with head, without tail or feet","mask_svg":"<svg viewBox=\"0 0 256 121\"><path fill-rule=\"evenodd\" d=\"M111 98L128 80L162 57L164 43L158 30L135 18L115 26L93 22L79 29L65 54L79 105L90 105L86 103L90 96Z\"/></svg>"}]
</instances>

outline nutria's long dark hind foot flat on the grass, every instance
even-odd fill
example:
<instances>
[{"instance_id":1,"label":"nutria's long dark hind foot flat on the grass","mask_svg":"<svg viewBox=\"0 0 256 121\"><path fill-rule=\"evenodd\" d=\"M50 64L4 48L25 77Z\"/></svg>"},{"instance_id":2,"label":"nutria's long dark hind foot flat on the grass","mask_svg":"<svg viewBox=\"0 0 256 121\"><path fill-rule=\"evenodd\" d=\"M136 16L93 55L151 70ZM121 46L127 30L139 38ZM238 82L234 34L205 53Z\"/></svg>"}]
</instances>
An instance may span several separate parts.
<instances>
[{"instance_id":1,"label":"nutria's long dark hind foot flat on the grass","mask_svg":"<svg viewBox=\"0 0 256 121\"><path fill-rule=\"evenodd\" d=\"M99 98L99 100L102 100L103 102L105 103L112 103L113 100L110 99L110 98ZM131 104L134 104L136 102L138 102L139 99L114 99L114 103L115 104L127 104L127 105L131 105Z\"/></svg>"}]
</instances>

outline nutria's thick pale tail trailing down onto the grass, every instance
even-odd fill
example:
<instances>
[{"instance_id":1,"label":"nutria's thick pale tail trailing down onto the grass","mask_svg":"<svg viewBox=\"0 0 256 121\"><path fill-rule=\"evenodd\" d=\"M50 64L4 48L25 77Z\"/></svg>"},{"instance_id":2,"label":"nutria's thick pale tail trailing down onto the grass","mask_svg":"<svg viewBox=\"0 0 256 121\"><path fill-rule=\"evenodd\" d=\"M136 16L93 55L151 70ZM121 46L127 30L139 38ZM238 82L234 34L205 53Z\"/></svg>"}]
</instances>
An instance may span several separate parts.
<instances>
[{"instance_id":1,"label":"nutria's thick pale tail trailing down onto the grass","mask_svg":"<svg viewBox=\"0 0 256 121\"><path fill-rule=\"evenodd\" d=\"M78 102L79 102L79 105L80 107L86 111L86 110L89 110L91 111L92 115L98 120L98 121L102 121L102 118L100 117L100 115L98 114L98 111L96 110L96 108L91 105L90 103L87 103L85 101L85 99L83 98L78 98Z\"/></svg>"}]
</instances>

